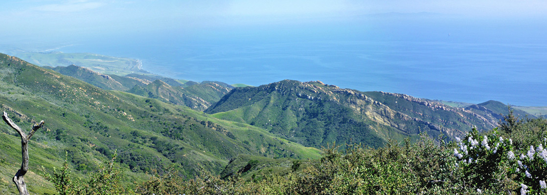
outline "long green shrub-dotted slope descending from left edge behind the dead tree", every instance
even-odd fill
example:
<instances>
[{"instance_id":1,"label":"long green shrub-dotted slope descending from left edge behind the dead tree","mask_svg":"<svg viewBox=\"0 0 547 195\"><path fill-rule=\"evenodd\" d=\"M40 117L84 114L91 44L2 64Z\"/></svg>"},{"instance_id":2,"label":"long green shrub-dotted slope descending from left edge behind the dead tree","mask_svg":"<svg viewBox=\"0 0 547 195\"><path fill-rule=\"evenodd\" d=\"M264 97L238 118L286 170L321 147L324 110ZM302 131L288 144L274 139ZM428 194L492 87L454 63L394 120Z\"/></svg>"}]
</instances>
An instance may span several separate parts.
<instances>
[{"instance_id":1,"label":"long green shrub-dotted slope descending from left edge behind the dead tree","mask_svg":"<svg viewBox=\"0 0 547 195\"><path fill-rule=\"evenodd\" d=\"M33 174L68 161L83 174L115 150L127 170L124 182L143 179L150 169L175 164L185 179L200 167L220 173L238 154L316 158L319 150L280 139L263 129L219 120L185 106L125 92L103 90L73 77L0 54L0 107L28 131L35 121L45 125L29 143L31 192L47 182ZM20 163L20 141L0 125L0 188L11 184Z\"/></svg>"}]
</instances>

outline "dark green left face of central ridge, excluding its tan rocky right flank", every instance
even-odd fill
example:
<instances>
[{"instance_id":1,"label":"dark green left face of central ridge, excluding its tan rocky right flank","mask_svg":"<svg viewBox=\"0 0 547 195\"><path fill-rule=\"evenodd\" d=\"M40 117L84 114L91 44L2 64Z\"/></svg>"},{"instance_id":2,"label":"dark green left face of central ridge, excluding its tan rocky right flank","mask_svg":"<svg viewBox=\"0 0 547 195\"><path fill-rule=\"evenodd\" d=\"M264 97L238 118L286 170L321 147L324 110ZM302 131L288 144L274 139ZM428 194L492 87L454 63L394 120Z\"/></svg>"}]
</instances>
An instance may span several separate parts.
<instances>
[{"instance_id":1,"label":"dark green left face of central ridge, excluding its tan rocky right flank","mask_svg":"<svg viewBox=\"0 0 547 195\"><path fill-rule=\"evenodd\" d=\"M402 139L409 136L390 126L360 118L351 108L334 100L345 97L344 94L310 93L315 89L300 84L281 81L260 87L236 88L206 112L215 113L218 118L259 126L290 141L317 148L333 142L362 142L379 147L387 137ZM325 88L329 93L331 87ZM378 131L384 134L380 136Z\"/></svg>"}]
</instances>

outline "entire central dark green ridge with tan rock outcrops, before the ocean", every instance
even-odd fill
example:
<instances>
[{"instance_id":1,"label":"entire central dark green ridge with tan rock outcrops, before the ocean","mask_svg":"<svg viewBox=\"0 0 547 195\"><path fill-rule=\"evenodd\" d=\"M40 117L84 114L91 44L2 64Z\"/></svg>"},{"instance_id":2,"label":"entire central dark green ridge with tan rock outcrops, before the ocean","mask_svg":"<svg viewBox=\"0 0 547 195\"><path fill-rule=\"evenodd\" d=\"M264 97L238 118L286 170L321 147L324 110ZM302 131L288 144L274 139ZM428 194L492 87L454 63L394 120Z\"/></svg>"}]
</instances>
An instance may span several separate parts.
<instances>
[{"instance_id":1,"label":"entire central dark green ridge with tan rock outcrops, before the ocean","mask_svg":"<svg viewBox=\"0 0 547 195\"><path fill-rule=\"evenodd\" d=\"M333 142L379 147L387 138L416 138L422 131L454 137L472 126L487 130L498 123L490 113L403 94L341 89L319 81L284 80L236 88L205 112L317 148Z\"/></svg>"}]
</instances>

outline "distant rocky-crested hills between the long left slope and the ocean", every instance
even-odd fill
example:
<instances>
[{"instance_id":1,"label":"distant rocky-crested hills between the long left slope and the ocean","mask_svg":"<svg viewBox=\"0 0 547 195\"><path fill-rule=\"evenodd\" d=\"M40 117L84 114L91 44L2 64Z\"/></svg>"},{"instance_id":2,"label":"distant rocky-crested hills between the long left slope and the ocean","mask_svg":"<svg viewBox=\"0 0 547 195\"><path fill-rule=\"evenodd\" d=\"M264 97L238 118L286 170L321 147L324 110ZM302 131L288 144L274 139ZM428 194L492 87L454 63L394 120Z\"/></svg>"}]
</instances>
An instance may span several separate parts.
<instances>
[{"instance_id":1,"label":"distant rocky-crested hills between the long left slope and the ocean","mask_svg":"<svg viewBox=\"0 0 547 195\"><path fill-rule=\"evenodd\" d=\"M51 68L63 75L108 90L120 90L203 111L220 100L233 86L217 81L179 82L152 74L104 75L75 65Z\"/></svg>"}]
</instances>

